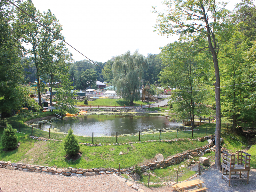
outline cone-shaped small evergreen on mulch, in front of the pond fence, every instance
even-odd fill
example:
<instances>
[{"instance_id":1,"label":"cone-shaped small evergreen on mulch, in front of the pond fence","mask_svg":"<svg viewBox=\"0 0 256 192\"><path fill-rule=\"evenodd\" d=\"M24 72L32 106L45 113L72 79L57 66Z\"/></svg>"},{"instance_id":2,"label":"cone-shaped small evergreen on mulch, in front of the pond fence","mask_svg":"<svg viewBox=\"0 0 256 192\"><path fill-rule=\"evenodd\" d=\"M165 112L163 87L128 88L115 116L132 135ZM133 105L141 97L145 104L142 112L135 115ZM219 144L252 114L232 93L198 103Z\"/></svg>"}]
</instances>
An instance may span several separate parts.
<instances>
[{"instance_id":1,"label":"cone-shaped small evergreen on mulch, in front of the pond fence","mask_svg":"<svg viewBox=\"0 0 256 192\"><path fill-rule=\"evenodd\" d=\"M68 135L66 136L64 140L64 150L69 156L74 156L76 153L79 152L79 145L78 141L75 138L75 135L73 134L73 130L70 128L68 130Z\"/></svg>"}]
</instances>

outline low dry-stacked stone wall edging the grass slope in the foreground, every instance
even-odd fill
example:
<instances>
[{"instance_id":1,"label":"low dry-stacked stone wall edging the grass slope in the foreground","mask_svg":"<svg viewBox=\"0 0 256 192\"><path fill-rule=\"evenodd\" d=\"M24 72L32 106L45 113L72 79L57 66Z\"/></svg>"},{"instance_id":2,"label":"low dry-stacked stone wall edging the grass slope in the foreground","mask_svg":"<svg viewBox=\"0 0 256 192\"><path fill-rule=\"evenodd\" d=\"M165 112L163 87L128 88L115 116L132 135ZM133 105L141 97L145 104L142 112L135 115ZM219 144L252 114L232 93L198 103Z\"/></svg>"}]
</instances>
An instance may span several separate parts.
<instances>
[{"instance_id":1,"label":"low dry-stacked stone wall edging the grass slope in the foreground","mask_svg":"<svg viewBox=\"0 0 256 192\"><path fill-rule=\"evenodd\" d=\"M200 138L200 140L206 139L214 139L214 135L205 136ZM165 142L175 142L176 140L164 140ZM184 140L184 139L180 139ZM204 153L215 151L214 147L211 147L210 144L205 145L201 148L196 148L194 150L188 150L182 154L175 155L168 159L164 159L161 156L157 158L157 161L153 161L151 163L142 165L140 167L142 172L147 172L148 170L153 170L159 167L167 167L169 165L178 164L185 159L189 159L189 156L203 156ZM161 155L161 154L160 154ZM66 176L92 176L92 175L99 175L99 174L118 174L118 169L114 168L92 168L92 169L74 169L72 167L68 167L67 169L57 169L55 167L48 167L48 166L38 166L38 165L31 165L31 164L24 164L24 163L13 163L11 161L7 162L0 162L0 168L10 169L10 170L19 170L24 172L37 172L37 173L47 173L52 175L66 175ZM135 171L134 167L120 169L121 174L130 174L132 175L133 171Z\"/></svg>"}]
</instances>

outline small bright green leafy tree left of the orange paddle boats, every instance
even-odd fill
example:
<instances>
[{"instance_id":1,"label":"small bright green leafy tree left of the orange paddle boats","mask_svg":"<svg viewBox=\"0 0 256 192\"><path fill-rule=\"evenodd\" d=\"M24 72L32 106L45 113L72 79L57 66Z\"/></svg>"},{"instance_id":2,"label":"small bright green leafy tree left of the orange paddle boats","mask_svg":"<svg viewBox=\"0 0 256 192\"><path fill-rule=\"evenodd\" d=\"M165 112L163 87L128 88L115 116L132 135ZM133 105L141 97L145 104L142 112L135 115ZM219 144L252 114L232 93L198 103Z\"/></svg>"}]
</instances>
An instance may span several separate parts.
<instances>
[{"instance_id":1,"label":"small bright green leafy tree left of the orange paddle boats","mask_svg":"<svg viewBox=\"0 0 256 192\"><path fill-rule=\"evenodd\" d=\"M61 87L56 88L56 98L53 102L56 102L55 108L60 109L60 115L64 115L66 112L68 113L77 113L78 109L74 107L76 104L76 100L73 98L75 95L73 92L73 86L71 86L71 82L66 75L60 75Z\"/></svg>"}]
</instances>

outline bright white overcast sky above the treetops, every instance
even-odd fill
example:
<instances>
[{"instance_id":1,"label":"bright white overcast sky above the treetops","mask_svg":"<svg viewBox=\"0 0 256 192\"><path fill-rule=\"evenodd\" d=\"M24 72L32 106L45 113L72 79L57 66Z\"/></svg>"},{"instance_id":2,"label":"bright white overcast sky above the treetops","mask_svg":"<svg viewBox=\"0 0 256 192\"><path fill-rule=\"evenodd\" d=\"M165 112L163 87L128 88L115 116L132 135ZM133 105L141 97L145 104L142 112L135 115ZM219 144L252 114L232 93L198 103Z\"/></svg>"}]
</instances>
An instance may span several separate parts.
<instances>
[{"instance_id":1,"label":"bright white overcast sky above the treetops","mask_svg":"<svg viewBox=\"0 0 256 192\"><path fill-rule=\"evenodd\" d=\"M228 0L225 0L228 2ZM106 62L112 56L128 50L160 53L178 36L161 36L154 32L157 14L163 11L162 0L32 0L40 12L52 11L62 24L66 41L93 61ZM240 0L230 0L227 9L233 10ZM84 56L69 47L75 61Z\"/></svg>"}]
</instances>

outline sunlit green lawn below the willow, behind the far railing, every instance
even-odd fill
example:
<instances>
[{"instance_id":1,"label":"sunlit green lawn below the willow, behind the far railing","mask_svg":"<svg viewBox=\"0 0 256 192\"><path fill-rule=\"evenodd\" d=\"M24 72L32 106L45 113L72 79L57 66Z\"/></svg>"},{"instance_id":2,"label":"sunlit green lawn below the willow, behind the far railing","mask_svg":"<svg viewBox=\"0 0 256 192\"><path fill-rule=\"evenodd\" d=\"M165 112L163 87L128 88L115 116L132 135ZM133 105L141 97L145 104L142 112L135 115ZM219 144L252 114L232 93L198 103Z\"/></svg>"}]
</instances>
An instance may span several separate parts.
<instances>
[{"instance_id":1,"label":"sunlit green lawn below the willow, behind the far railing","mask_svg":"<svg viewBox=\"0 0 256 192\"><path fill-rule=\"evenodd\" d=\"M136 101L134 104L136 105L148 105L154 102L142 102ZM77 102L77 105L84 105L84 101ZM88 101L88 105L130 105L130 102L124 101L123 99L96 99L94 101Z\"/></svg>"}]
</instances>

